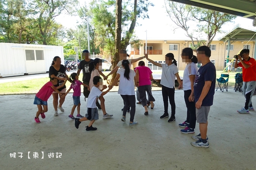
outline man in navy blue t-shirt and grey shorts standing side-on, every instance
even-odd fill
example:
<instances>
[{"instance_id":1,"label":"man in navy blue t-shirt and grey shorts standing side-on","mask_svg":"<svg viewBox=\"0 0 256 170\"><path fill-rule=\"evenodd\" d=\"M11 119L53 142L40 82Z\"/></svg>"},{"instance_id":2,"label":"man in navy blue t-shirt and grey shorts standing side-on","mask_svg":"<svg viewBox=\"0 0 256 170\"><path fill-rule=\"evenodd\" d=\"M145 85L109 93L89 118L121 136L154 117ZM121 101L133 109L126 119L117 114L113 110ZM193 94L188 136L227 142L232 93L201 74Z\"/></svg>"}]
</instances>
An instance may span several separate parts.
<instances>
[{"instance_id":1,"label":"man in navy blue t-shirt and grey shorts standing side-on","mask_svg":"<svg viewBox=\"0 0 256 170\"><path fill-rule=\"evenodd\" d=\"M192 136L192 139L197 140L196 142L191 142L195 147L209 147L207 137L207 117L210 106L213 104L216 82L216 69L210 60L210 56L211 50L209 47L201 46L197 49L198 62L201 62L202 65L198 69L194 81L196 119L199 123L200 130L199 135Z\"/></svg>"}]
</instances>

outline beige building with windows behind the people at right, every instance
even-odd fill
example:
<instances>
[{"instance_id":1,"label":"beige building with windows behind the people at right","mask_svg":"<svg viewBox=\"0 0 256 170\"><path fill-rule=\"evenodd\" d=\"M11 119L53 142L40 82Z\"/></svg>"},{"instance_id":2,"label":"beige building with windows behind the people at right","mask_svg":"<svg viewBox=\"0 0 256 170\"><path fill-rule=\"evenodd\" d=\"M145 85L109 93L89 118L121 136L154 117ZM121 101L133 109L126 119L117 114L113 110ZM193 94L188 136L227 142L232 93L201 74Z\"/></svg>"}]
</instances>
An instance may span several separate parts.
<instances>
[{"instance_id":1,"label":"beige building with windows behind the people at right","mask_svg":"<svg viewBox=\"0 0 256 170\"><path fill-rule=\"evenodd\" d=\"M143 56L145 53L148 54L148 57L155 62L165 63L165 55L167 53L172 53L177 60L177 67L179 70L184 70L186 64L182 62L180 57L181 51L183 48L189 47L191 40L147 40L147 52L145 51L145 40L141 40L141 45L133 45L131 43L131 54L130 58L138 58ZM212 55L210 57L212 63L215 65L216 70L223 70L226 67L226 58L228 54L228 42L223 41L212 41L210 45ZM230 42L230 54L229 57L233 58L234 55L238 54L242 49L247 48L250 50L250 56L253 57L255 53L255 41L233 41ZM196 53L194 53L196 56ZM152 65L144 59L146 66L151 68L151 70L161 70L161 68ZM133 68L138 64L134 63ZM198 63L198 67L201 64Z\"/></svg>"}]
</instances>

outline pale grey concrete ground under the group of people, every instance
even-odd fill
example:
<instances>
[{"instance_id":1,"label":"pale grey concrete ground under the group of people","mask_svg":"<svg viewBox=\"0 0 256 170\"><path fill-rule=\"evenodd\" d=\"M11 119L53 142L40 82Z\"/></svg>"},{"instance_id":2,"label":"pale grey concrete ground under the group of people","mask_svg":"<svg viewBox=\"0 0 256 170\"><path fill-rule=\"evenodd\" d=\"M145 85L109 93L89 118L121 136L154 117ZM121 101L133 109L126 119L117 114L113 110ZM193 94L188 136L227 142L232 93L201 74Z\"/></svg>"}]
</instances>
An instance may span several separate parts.
<instances>
[{"instance_id":1,"label":"pale grey concrete ground under the group of people","mask_svg":"<svg viewBox=\"0 0 256 170\"><path fill-rule=\"evenodd\" d=\"M105 105L111 119L99 120L86 131L89 122L74 126L68 118L73 106L72 94L64 102L64 113L53 116L52 97L48 100L46 118L34 121L37 107L35 95L0 96L0 170L255 170L256 111L239 114L244 105L242 93L215 92L214 105L209 113L209 148L193 147L192 135L180 133L179 123L186 118L183 91L175 91L176 121L160 119L163 114L161 91L153 91L156 99L153 110L145 116L142 105L136 105L135 121L129 127L122 122L122 98L117 92L105 95ZM253 104L256 106L255 97ZM86 112L81 97L81 114ZM169 111L171 110L169 105ZM76 113L76 112L75 112ZM129 120L129 113L127 119ZM28 159L28 152L30 159ZM33 158L37 152L39 158ZM44 152L44 159L42 158ZM16 153L11 158L10 153ZM19 153L19 154L18 154ZM23 153L23 158L20 158ZM54 158L49 158L54 153ZM61 153L61 158L56 158ZM35 155L36 156L36 155Z\"/></svg>"}]
</instances>

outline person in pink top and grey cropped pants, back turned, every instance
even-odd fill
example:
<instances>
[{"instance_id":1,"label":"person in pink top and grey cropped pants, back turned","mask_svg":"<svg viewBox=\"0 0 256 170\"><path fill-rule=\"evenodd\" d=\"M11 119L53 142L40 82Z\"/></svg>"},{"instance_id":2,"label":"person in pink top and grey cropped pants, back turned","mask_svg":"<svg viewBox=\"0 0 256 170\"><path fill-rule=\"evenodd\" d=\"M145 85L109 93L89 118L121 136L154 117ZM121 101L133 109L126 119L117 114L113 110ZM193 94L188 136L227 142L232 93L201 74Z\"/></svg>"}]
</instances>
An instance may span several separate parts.
<instances>
[{"instance_id":1,"label":"person in pink top and grey cropped pants, back turned","mask_svg":"<svg viewBox=\"0 0 256 170\"><path fill-rule=\"evenodd\" d=\"M153 79L152 71L150 68L145 66L144 61L139 62L139 66L135 68L136 71L136 79L137 79L137 87L138 92L140 95L140 102L145 108L144 115L148 115L148 108L151 105L151 109L154 108L154 97L151 92L151 80ZM147 105L147 98L146 98L146 92L148 93L148 102L150 102L149 105Z\"/></svg>"}]
</instances>

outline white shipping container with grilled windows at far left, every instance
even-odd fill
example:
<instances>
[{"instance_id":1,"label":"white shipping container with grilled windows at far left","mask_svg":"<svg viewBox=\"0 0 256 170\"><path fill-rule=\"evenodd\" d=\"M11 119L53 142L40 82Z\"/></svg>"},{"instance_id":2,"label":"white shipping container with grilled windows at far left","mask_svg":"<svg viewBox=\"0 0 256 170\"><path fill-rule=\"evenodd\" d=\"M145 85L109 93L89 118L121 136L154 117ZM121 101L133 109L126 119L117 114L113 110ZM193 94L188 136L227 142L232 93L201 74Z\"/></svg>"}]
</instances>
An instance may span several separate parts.
<instances>
[{"instance_id":1,"label":"white shipping container with grilled windows at far left","mask_svg":"<svg viewBox=\"0 0 256 170\"><path fill-rule=\"evenodd\" d=\"M46 73L55 56L64 63L62 46L0 43L0 74L3 77Z\"/></svg>"}]
</instances>

